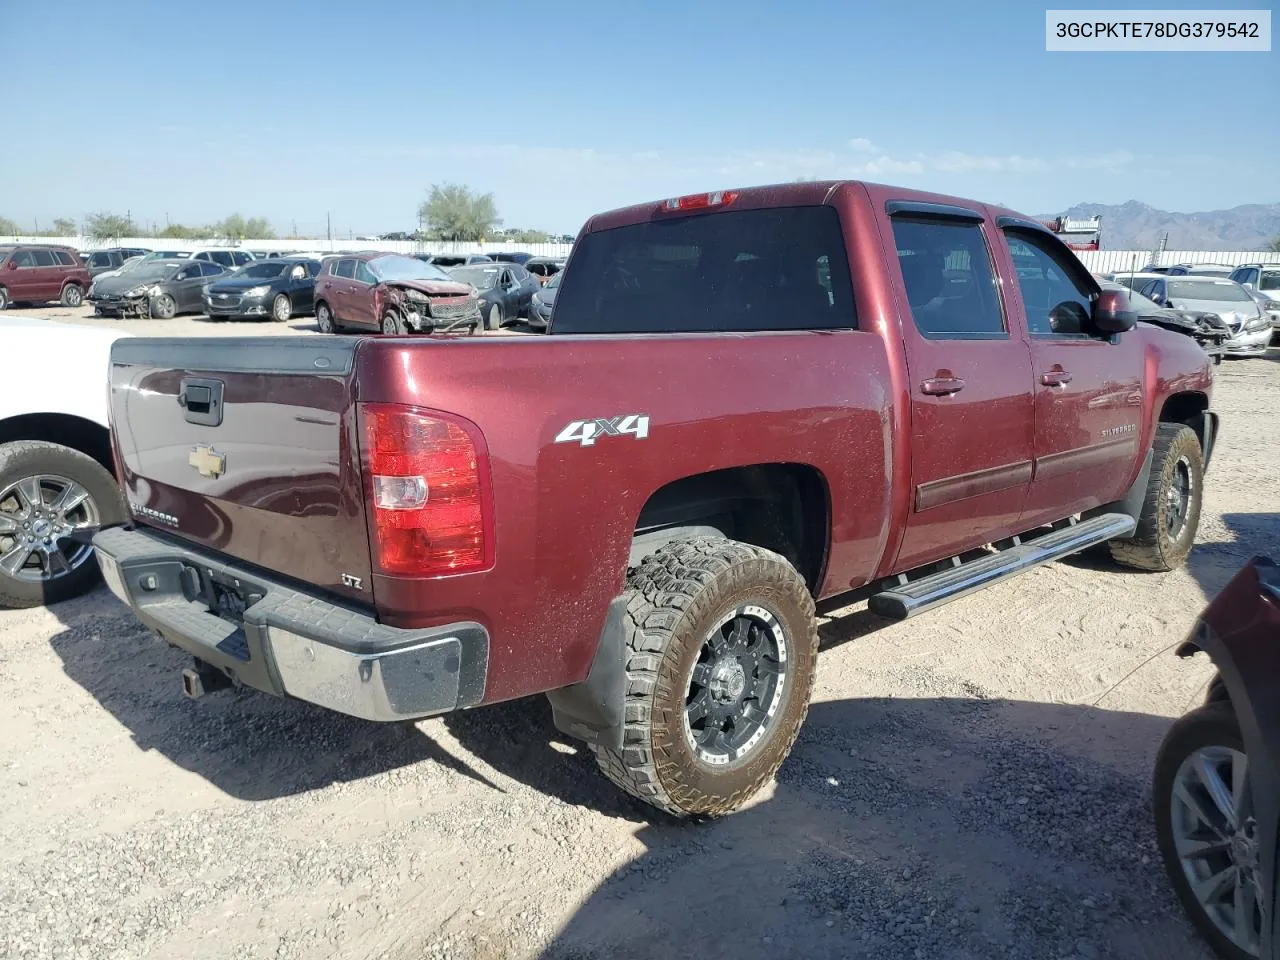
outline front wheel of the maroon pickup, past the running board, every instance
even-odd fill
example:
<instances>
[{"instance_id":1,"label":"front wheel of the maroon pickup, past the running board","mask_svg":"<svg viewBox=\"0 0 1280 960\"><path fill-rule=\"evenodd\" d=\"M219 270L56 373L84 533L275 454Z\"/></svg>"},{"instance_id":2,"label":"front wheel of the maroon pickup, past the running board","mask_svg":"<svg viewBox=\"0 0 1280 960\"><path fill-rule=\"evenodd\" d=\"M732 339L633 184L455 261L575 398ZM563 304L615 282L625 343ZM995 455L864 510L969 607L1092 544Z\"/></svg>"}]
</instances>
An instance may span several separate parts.
<instances>
[{"instance_id":1,"label":"front wheel of the maroon pickup, past the running board","mask_svg":"<svg viewBox=\"0 0 1280 960\"><path fill-rule=\"evenodd\" d=\"M1111 541L1111 557L1138 570L1180 567L1196 543L1203 495L1204 456L1196 431L1160 424L1138 527L1133 538Z\"/></svg>"}]
</instances>

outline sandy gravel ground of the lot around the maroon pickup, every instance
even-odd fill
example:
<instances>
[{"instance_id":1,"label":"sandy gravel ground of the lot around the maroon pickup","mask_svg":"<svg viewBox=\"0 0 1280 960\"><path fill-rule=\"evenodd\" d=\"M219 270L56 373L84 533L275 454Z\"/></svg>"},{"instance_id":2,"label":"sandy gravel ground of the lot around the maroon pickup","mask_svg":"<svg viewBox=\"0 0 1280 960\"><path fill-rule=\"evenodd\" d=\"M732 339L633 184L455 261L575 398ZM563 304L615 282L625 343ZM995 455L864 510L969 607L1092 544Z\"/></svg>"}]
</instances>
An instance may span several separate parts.
<instances>
[{"instance_id":1,"label":"sandy gravel ground of the lot around the maroon pickup","mask_svg":"<svg viewBox=\"0 0 1280 960\"><path fill-rule=\"evenodd\" d=\"M1211 672L1171 646L1276 549L1277 360L1219 367L1187 570L1089 554L908 623L828 611L795 751L709 824L620 795L541 699L193 703L104 590L0 612L0 955L1199 960L1148 780Z\"/></svg>"}]
</instances>

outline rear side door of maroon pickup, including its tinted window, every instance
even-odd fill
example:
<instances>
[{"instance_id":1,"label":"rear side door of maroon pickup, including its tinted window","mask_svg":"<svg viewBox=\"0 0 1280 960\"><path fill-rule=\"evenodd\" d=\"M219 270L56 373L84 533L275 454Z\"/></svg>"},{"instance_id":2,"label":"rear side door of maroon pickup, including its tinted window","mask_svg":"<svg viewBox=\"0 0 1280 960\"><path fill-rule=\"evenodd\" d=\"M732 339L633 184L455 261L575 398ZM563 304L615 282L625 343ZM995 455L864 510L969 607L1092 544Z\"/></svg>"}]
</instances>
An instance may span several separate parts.
<instances>
[{"instance_id":1,"label":"rear side door of maroon pickup, including its tinted window","mask_svg":"<svg viewBox=\"0 0 1280 960\"><path fill-rule=\"evenodd\" d=\"M1030 357L983 214L892 201L911 404L906 570L1018 532L1032 477Z\"/></svg>"}]
</instances>

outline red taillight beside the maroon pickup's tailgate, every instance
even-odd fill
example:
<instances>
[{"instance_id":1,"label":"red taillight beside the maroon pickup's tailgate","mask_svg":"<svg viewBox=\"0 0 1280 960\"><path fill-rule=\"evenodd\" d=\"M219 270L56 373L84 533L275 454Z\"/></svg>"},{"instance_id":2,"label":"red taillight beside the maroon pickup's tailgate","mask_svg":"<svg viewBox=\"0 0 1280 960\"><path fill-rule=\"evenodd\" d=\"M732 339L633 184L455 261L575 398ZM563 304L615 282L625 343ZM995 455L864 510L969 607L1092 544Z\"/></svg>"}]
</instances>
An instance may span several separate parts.
<instances>
[{"instance_id":1,"label":"red taillight beside the maroon pickup's tailgate","mask_svg":"<svg viewBox=\"0 0 1280 960\"><path fill-rule=\"evenodd\" d=\"M493 563L489 465L480 431L448 413L360 404L374 567L443 576Z\"/></svg>"}]
</instances>

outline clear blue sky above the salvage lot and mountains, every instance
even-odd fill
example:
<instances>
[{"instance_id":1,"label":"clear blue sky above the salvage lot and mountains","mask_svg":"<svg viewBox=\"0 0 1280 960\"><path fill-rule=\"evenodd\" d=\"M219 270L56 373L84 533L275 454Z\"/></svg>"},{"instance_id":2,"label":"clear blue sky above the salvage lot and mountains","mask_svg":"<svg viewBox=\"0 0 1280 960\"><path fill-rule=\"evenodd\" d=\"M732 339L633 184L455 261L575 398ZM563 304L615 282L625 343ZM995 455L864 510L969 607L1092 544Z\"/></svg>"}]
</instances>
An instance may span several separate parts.
<instances>
[{"instance_id":1,"label":"clear blue sky above the salvage lot and mountains","mask_svg":"<svg viewBox=\"0 0 1280 960\"><path fill-rule=\"evenodd\" d=\"M797 177L1033 214L1280 200L1280 52L1050 54L1044 9L0 0L0 215L238 211L285 233L328 212L346 236L412 229L457 182L508 225L572 233Z\"/></svg>"}]
</instances>

